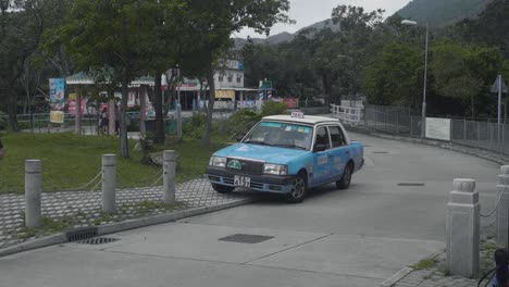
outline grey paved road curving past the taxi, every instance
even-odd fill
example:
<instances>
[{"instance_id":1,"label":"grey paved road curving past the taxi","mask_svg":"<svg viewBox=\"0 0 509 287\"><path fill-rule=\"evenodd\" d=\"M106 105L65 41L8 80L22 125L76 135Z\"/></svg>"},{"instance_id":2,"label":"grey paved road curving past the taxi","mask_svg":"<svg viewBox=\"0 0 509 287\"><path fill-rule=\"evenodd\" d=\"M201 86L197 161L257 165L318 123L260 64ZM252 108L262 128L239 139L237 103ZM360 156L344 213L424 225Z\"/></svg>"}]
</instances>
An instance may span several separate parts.
<instances>
[{"instance_id":1,"label":"grey paved road curving past the taxi","mask_svg":"<svg viewBox=\"0 0 509 287\"><path fill-rule=\"evenodd\" d=\"M112 235L121 240L105 246L67 244L0 258L0 286L377 286L445 248L454 178L476 179L482 209L493 204L495 163L435 147L351 138L367 145L367 166L348 190L319 188L301 204L268 197ZM235 234L272 238L218 240Z\"/></svg>"}]
</instances>

